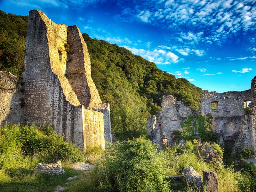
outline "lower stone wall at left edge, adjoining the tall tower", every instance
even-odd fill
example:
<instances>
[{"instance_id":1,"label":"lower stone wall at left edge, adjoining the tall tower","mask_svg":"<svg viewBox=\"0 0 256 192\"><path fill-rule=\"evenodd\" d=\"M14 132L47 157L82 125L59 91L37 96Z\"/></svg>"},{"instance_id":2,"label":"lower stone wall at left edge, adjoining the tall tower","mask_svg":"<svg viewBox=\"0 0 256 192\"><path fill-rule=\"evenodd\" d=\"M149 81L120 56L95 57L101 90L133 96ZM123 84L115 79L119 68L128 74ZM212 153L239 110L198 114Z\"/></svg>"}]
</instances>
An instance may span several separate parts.
<instances>
[{"instance_id":1,"label":"lower stone wall at left edge, adjoining the tall tower","mask_svg":"<svg viewBox=\"0 0 256 192\"><path fill-rule=\"evenodd\" d=\"M22 114L22 77L0 71L0 126L18 124Z\"/></svg>"}]
</instances>

